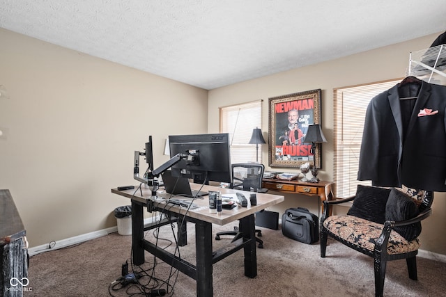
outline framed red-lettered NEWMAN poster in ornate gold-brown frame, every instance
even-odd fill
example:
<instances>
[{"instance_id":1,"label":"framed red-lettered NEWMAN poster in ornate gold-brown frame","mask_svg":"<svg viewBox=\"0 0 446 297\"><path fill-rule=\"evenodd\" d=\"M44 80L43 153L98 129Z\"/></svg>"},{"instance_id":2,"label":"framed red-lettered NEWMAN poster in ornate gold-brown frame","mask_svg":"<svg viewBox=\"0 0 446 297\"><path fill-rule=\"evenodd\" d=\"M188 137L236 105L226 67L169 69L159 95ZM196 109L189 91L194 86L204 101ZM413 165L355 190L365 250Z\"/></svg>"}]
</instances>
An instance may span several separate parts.
<instances>
[{"instance_id":1,"label":"framed red-lettered NEWMAN poster in ornate gold-brown frame","mask_svg":"<svg viewBox=\"0 0 446 297\"><path fill-rule=\"evenodd\" d=\"M321 168L321 145L311 154L312 143L303 143L308 126L321 124L321 89L269 98L269 117L270 167Z\"/></svg>"}]
</instances>

